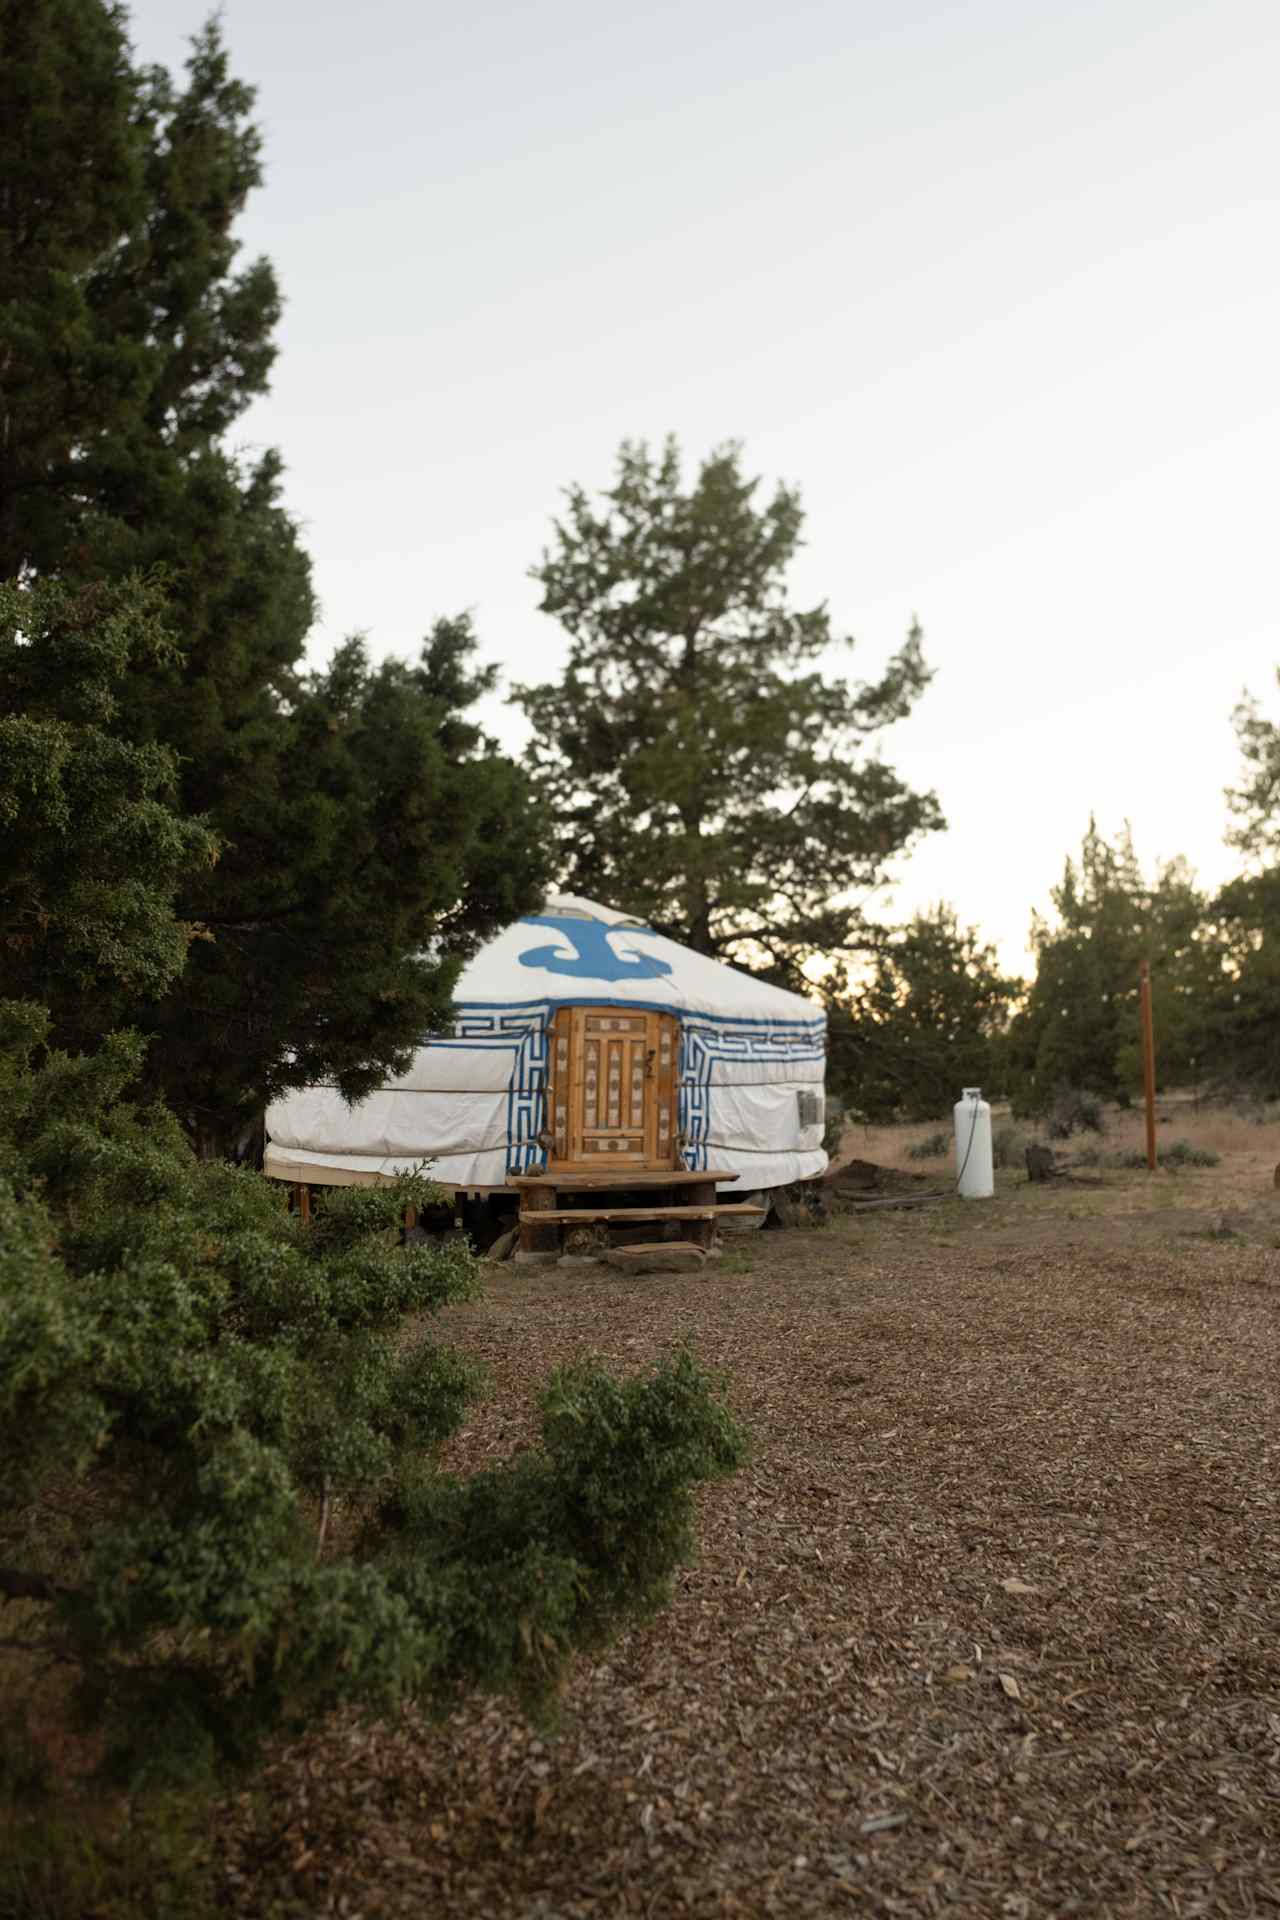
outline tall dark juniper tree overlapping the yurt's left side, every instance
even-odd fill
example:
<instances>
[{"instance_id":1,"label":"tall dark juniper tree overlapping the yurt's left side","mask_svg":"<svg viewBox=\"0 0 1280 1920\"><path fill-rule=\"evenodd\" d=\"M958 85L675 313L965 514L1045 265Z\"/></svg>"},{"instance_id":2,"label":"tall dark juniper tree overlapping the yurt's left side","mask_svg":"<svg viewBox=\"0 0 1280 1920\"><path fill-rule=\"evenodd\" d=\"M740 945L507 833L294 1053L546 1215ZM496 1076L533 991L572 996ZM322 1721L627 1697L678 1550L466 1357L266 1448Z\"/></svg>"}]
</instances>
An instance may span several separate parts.
<instances>
[{"instance_id":1,"label":"tall dark juniper tree overlapping the yurt's left side","mask_svg":"<svg viewBox=\"0 0 1280 1920\"><path fill-rule=\"evenodd\" d=\"M104 0L0 0L0 574L163 578L177 645L125 676L111 728L177 756L177 806L221 858L182 885L203 927L186 972L130 1018L152 1087L228 1150L286 1083L355 1094L403 1066L547 858L518 770L466 716L489 685L466 622L413 666L351 643L305 672L282 463L228 442L280 294L240 259L261 138L217 23L182 83L132 61Z\"/></svg>"}]
</instances>

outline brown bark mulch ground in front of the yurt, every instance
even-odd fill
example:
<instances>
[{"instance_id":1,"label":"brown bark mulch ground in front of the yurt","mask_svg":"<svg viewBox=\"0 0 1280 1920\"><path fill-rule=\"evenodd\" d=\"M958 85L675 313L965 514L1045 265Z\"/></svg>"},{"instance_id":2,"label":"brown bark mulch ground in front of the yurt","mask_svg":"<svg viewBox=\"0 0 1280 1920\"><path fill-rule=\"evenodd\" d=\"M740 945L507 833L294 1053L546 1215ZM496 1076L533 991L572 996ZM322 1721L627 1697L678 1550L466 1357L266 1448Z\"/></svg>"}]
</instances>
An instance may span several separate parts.
<instances>
[{"instance_id":1,"label":"brown bark mulch ground in front of the yurt","mask_svg":"<svg viewBox=\"0 0 1280 1920\"><path fill-rule=\"evenodd\" d=\"M681 1338L752 1465L555 1740L480 1703L278 1753L228 1912L1280 1912L1280 1254L944 1212L453 1313L495 1377L455 1465L551 1365Z\"/></svg>"}]
</instances>

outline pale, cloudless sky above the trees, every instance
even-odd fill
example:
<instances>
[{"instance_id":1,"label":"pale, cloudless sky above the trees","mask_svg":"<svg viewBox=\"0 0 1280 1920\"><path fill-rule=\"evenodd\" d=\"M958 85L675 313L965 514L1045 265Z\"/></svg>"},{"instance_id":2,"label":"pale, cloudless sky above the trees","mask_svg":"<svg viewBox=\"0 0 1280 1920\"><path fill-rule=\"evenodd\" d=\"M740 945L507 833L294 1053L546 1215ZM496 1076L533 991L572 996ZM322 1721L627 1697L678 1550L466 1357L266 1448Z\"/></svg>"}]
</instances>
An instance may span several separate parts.
<instances>
[{"instance_id":1,"label":"pale, cloudless sky above the trees","mask_svg":"<svg viewBox=\"0 0 1280 1920\"><path fill-rule=\"evenodd\" d=\"M200 0L132 8L177 67ZM549 678L528 578L624 436L796 484L798 603L936 680L885 758L1021 966L1090 808L1232 872L1230 710L1274 695L1276 0L225 0L286 317L278 445L319 662L470 607ZM833 666L844 668L844 657ZM516 749L524 722L493 707Z\"/></svg>"}]
</instances>

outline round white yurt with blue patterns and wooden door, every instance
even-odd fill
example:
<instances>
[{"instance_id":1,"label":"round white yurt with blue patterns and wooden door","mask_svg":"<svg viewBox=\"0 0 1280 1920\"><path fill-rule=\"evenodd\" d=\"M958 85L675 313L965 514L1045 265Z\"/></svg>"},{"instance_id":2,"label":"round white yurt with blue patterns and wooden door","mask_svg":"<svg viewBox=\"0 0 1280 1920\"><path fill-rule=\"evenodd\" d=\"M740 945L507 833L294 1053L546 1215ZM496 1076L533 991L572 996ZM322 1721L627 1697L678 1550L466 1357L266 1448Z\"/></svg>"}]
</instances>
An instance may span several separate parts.
<instances>
[{"instance_id":1,"label":"round white yurt with blue patterns and wooden door","mask_svg":"<svg viewBox=\"0 0 1280 1920\"><path fill-rule=\"evenodd\" d=\"M267 1112L274 1179L353 1185L430 1162L455 1194L551 1173L702 1171L737 1192L827 1165L825 1014L812 1000L560 895L462 972L453 1035L347 1106Z\"/></svg>"}]
</instances>

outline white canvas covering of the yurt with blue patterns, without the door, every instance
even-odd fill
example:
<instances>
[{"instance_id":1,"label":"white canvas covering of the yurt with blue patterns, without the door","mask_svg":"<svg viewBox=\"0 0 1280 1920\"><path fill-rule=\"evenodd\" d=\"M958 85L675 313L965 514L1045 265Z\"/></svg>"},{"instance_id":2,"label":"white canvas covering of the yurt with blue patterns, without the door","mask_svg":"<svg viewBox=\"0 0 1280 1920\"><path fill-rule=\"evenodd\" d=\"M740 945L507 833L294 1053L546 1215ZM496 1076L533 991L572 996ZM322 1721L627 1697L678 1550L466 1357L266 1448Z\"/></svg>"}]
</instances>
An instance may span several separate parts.
<instances>
[{"instance_id":1,"label":"white canvas covering of the yurt with blue patterns, without the door","mask_svg":"<svg viewBox=\"0 0 1280 1920\"><path fill-rule=\"evenodd\" d=\"M739 1190L821 1173L821 1121L796 1094L821 1092L825 1016L814 1002L560 897L516 922L464 970L457 1035L355 1106L307 1087L267 1114L267 1171L344 1181L430 1162L445 1187L503 1187L541 1165L547 1029L560 1006L645 1006L681 1025L685 1164L735 1173Z\"/></svg>"}]
</instances>

